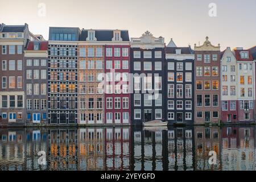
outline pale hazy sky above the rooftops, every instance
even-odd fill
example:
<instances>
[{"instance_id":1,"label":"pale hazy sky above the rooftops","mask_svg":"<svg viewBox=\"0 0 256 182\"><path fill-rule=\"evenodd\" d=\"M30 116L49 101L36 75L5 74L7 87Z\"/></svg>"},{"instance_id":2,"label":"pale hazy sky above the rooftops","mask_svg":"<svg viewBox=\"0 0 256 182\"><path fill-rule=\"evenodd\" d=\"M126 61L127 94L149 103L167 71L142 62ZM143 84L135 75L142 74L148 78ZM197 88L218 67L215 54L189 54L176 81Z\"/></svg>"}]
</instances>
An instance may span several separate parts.
<instances>
[{"instance_id":1,"label":"pale hazy sky above the rooftops","mask_svg":"<svg viewBox=\"0 0 256 182\"><path fill-rule=\"evenodd\" d=\"M38 4L46 16L38 16ZM216 3L217 17L208 15ZM156 37L171 38L177 46L203 43L250 48L256 45L255 0L15 0L1 5L0 22L29 24L30 31L48 39L49 26L126 29L130 38L148 30Z\"/></svg>"}]
</instances>

